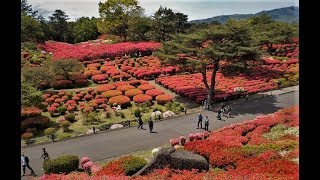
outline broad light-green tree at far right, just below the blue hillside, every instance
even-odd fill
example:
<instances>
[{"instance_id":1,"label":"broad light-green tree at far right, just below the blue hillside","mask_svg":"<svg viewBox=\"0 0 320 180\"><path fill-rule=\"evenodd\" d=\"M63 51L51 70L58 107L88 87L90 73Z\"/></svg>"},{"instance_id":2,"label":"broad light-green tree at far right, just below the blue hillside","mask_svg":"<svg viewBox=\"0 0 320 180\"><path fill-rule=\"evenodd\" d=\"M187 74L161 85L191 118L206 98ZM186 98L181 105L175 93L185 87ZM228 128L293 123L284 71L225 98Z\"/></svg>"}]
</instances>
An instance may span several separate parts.
<instances>
[{"instance_id":1,"label":"broad light-green tree at far right, just below the blue hillside","mask_svg":"<svg viewBox=\"0 0 320 180\"><path fill-rule=\"evenodd\" d=\"M285 22L273 21L268 15L253 17L251 24L255 43L267 46L270 54L273 44L290 42L294 35L292 26Z\"/></svg>"}]
</instances>

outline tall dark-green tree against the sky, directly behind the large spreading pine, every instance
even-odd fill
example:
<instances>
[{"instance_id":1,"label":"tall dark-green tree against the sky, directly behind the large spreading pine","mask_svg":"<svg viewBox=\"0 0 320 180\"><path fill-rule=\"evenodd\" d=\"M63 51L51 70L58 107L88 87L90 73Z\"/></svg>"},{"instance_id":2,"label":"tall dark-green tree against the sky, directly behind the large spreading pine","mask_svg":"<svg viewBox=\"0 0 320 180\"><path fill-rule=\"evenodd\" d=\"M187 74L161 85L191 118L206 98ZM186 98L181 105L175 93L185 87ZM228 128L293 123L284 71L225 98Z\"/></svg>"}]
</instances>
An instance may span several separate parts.
<instances>
[{"instance_id":1,"label":"tall dark-green tree against the sky, directly behind the large spreading pine","mask_svg":"<svg viewBox=\"0 0 320 180\"><path fill-rule=\"evenodd\" d=\"M168 41L175 33L185 33L190 24L188 16L174 13L170 8L160 7L153 16L152 37L156 41Z\"/></svg>"}]
</instances>

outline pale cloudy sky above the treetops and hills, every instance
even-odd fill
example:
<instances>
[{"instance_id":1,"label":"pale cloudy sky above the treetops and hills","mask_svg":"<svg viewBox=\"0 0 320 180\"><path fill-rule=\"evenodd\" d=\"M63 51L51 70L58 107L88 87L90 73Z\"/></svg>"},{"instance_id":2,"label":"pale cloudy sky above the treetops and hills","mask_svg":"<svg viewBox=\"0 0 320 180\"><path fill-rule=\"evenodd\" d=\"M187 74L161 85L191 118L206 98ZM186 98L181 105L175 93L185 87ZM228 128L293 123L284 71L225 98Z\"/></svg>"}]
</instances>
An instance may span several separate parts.
<instances>
[{"instance_id":1,"label":"pale cloudy sky above the treetops and hills","mask_svg":"<svg viewBox=\"0 0 320 180\"><path fill-rule=\"evenodd\" d=\"M288 6L299 6L299 0L138 0L146 15L152 15L160 6L187 14L189 20L219 15L249 14ZM27 0L44 17L56 9L66 12L71 21L76 18L99 17L98 3L105 0Z\"/></svg>"}]
</instances>

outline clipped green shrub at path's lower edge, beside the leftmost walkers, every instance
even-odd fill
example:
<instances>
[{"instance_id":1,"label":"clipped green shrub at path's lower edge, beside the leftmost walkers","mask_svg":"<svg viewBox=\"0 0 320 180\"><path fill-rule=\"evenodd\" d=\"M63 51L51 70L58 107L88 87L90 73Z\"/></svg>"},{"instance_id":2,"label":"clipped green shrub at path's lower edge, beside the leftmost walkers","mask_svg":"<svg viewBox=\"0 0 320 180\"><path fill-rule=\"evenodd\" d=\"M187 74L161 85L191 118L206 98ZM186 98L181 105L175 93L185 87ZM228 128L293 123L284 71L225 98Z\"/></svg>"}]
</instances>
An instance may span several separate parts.
<instances>
[{"instance_id":1,"label":"clipped green shrub at path's lower edge, beside the leftmost walkers","mask_svg":"<svg viewBox=\"0 0 320 180\"><path fill-rule=\"evenodd\" d=\"M55 159L50 159L44 162L43 169L46 174L54 173L70 173L78 170L79 157L76 155L64 155Z\"/></svg>"}]
</instances>

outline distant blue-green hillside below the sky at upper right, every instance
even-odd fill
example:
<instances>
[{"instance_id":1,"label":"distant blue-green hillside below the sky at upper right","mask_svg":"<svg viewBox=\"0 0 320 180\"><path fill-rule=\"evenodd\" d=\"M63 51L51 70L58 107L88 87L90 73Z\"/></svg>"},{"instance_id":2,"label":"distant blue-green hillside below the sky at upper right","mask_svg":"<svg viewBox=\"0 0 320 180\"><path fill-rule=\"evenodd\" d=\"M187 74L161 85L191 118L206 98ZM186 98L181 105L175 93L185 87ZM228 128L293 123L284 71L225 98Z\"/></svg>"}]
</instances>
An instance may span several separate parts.
<instances>
[{"instance_id":1,"label":"distant blue-green hillside below the sky at upper right","mask_svg":"<svg viewBox=\"0 0 320 180\"><path fill-rule=\"evenodd\" d=\"M261 11L256 14L233 14L233 15L222 15L215 16L208 19L199 19L190 21L191 23L210 23L213 21L217 21L220 23L224 23L228 19L246 19L252 16L261 15L263 13L267 13L271 15L272 19L276 21L284 21L284 22L297 22L299 21L299 7L290 6L285 8L273 9L270 11Z\"/></svg>"}]
</instances>

